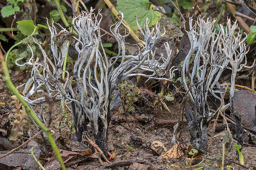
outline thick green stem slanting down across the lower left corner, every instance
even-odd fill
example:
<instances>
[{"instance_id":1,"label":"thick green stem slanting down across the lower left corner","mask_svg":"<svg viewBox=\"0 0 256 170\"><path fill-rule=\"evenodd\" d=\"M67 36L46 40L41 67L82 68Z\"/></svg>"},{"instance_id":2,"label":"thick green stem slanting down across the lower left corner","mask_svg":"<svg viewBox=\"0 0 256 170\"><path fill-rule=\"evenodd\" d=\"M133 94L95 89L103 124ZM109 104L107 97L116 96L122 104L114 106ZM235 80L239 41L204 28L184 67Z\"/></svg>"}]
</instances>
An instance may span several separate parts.
<instances>
[{"instance_id":1,"label":"thick green stem slanting down across the lower left corner","mask_svg":"<svg viewBox=\"0 0 256 170\"><path fill-rule=\"evenodd\" d=\"M62 167L62 170L66 170L66 167L63 163L62 157L59 153L59 149L52 137L52 134L50 132L50 129L47 128L41 121L40 119L33 113L33 111L31 110L31 108L28 106L28 104L26 103L26 101L21 97L21 94L19 94L18 90L16 89L16 87L12 84L10 75L9 75L9 70L7 68L7 64L5 62L5 58L2 54L2 51L0 50L0 62L2 64L2 69L4 71L4 76L1 76L1 79L3 82L5 82L5 84L10 88L10 90L12 91L12 93L14 95L17 96L17 98L19 99L19 101L22 103L22 105L25 107L26 111L28 112L28 114L32 117L32 119L36 122L36 124L38 124L38 126L46 133L48 140L52 146L52 149L55 152L55 155L57 156L57 159L59 160L59 163Z\"/></svg>"}]
</instances>

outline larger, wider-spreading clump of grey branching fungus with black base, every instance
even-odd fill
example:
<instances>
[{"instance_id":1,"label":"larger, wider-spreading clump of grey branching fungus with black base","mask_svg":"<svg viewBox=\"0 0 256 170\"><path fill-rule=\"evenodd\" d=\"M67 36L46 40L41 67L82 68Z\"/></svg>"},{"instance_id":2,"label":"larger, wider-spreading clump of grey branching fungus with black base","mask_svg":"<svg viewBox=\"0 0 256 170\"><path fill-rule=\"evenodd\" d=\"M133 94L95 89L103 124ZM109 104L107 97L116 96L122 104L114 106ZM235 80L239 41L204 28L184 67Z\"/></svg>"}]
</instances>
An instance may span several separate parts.
<instances>
[{"instance_id":1,"label":"larger, wider-spreading clump of grey branching fungus with black base","mask_svg":"<svg viewBox=\"0 0 256 170\"><path fill-rule=\"evenodd\" d=\"M158 23L156 23L155 31L154 29L149 30L148 19L144 29L138 24L144 38L144 41L142 41L144 46L138 50L137 55L126 55L125 38L128 37L130 32L126 32L124 35L121 35L119 32L120 25L126 27L122 22L123 14L121 13L121 21L112 25L110 30L119 45L118 55L107 60L104 50L103 52L99 50L100 46L104 49L101 42L102 35L100 34L102 15L100 11L98 14L94 14L93 11L91 9L90 12L82 12L82 14L73 19L74 29L78 33L78 37L72 37L75 41L75 49L78 52L78 60L73 66L73 76L69 76L69 72L62 69L70 37L69 39L62 39L61 46L56 44L56 36L59 36L59 34L71 34L65 29L57 33L53 23L52 27L48 25L51 32L53 62L42 46L36 43L40 47L43 57L33 60L33 51L31 50L32 57L29 62L25 63L33 68L31 78L25 86L24 99L30 106L41 104L42 109L39 117L43 122L45 122L43 117L44 97L30 100L28 99L29 96L36 92L47 92L55 101L61 100L66 104L70 104L78 141L82 140L83 132L87 131L87 124L90 122L95 143L107 155L107 130L110 120L109 106L111 93L116 89L121 80L128 76L140 75L147 78L171 80L173 68L170 70L166 69L173 56L171 55L170 46L166 42L167 56L161 56L158 60L155 59L155 53L152 52L152 48L163 34L160 33ZM118 60L120 63L117 63ZM40 68L43 68L42 72L39 71ZM137 69L147 71L150 74L134 73ZM167 71L169 72L169 78L161 78L162 73ZM63 72L65 72L64 79L62 78ZM28 91L29 83L32 81L33 86ZM71 83L73 81L76 83ZM76 86L74 87L74 85ZM41 87L45 87L46 91Z\"/></svg>"}]
</instances>

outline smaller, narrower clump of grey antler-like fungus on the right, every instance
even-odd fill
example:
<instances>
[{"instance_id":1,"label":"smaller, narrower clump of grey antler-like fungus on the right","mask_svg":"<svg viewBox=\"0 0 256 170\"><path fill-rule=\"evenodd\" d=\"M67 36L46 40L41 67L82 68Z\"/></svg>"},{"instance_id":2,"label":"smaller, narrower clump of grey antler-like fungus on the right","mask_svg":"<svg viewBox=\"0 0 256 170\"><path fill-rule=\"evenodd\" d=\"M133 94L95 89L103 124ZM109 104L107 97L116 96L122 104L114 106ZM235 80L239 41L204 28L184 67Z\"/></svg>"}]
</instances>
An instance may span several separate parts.
<instances>
[{"instance_id":1,"label":"smaller, narrower clump of grey antler-like fungus on the right","mask_svg":"<svg viewBox=\"0 0 256 170\"><path fill-rule=\"evenodd\" d=\"M247 64L243 61L246 51L242 33L234 34L237 28L237 22L231 26L228 18L228 24L224 30L223 25L219 25L220 30L215 33L214 30L216 19L199 16L196 21L190 17L190 28L187 35L190 39L190 51L187 54L183 64L183 84L185 90L192 102L191 109L185 104L185 117L188 121L189 132L191 135L191 144L200 150L206 150L207 129L211 120L216 117L218 110L212 113L207 103L209 93L221 100L217 93L220 91L213 90L223 73L223 70L230 63L232 66L232 78L230 88L230 110L233 110L233 94L235 90L235 76L237 71ZM193 24L194 23L194 24ZM196 29L198 27L198 29ZM190 64L192 60L192 64ZM189 80L189 83L186 80ZM225 110L229 104L223 106L221 111ZM192 111L193 110L193 111ZM241 125L237 118L237 126ZM237 131L237 136L242 136L242 131Z\"/></svg>"}]
</instances>

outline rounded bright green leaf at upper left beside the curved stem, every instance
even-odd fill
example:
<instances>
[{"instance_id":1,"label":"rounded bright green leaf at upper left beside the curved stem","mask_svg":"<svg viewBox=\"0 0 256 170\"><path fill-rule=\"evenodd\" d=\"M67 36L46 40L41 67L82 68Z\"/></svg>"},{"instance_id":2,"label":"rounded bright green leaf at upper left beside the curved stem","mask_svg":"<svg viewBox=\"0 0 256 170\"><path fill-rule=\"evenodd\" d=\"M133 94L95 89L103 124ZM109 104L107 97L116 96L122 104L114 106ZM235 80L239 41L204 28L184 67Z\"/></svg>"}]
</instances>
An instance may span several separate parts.
<instances>
[{"instance_id":1,"label":"rounded bright green leaf at upper left beside the curved stem","mask_svg":"<svg viewBox=\"0 0 256 170\"><path fill-rule=\"evenodd\" d=\"M20 32L26 36L31 35L34 31L34 29L38 30L38 27L34 25L34 22L32 20L29 21L17 21L17 28L20 30ZM34 34L38 34L36 31Z\"/></svg>"}]
</instances>

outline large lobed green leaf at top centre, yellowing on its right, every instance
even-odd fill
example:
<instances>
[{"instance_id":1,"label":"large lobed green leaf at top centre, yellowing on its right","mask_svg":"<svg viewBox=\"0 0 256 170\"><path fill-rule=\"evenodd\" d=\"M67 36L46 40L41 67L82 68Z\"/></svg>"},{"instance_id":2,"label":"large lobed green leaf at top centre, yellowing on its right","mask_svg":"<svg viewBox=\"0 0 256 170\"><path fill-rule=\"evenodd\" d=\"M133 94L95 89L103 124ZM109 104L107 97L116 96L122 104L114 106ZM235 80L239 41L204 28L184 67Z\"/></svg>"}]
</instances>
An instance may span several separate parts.
<instances>
[{"instance_id":1,"label":"large lobed green leaf at top centre, yellowing on its right","mask_svg":"<svg viewBox=\"0 0 256 170\"><path fill-rule=\"evenodd\" d=\"M124 19L130 24L132 29L138 29L136 16L138 23L142 23L142 27L146 22L146 18L149 18L149 27L155 25L162 17L159 11L154 11L155 6L149 7L148 0L118 0L116 9L123 13Z\"/></svg>"}]
</instances>

